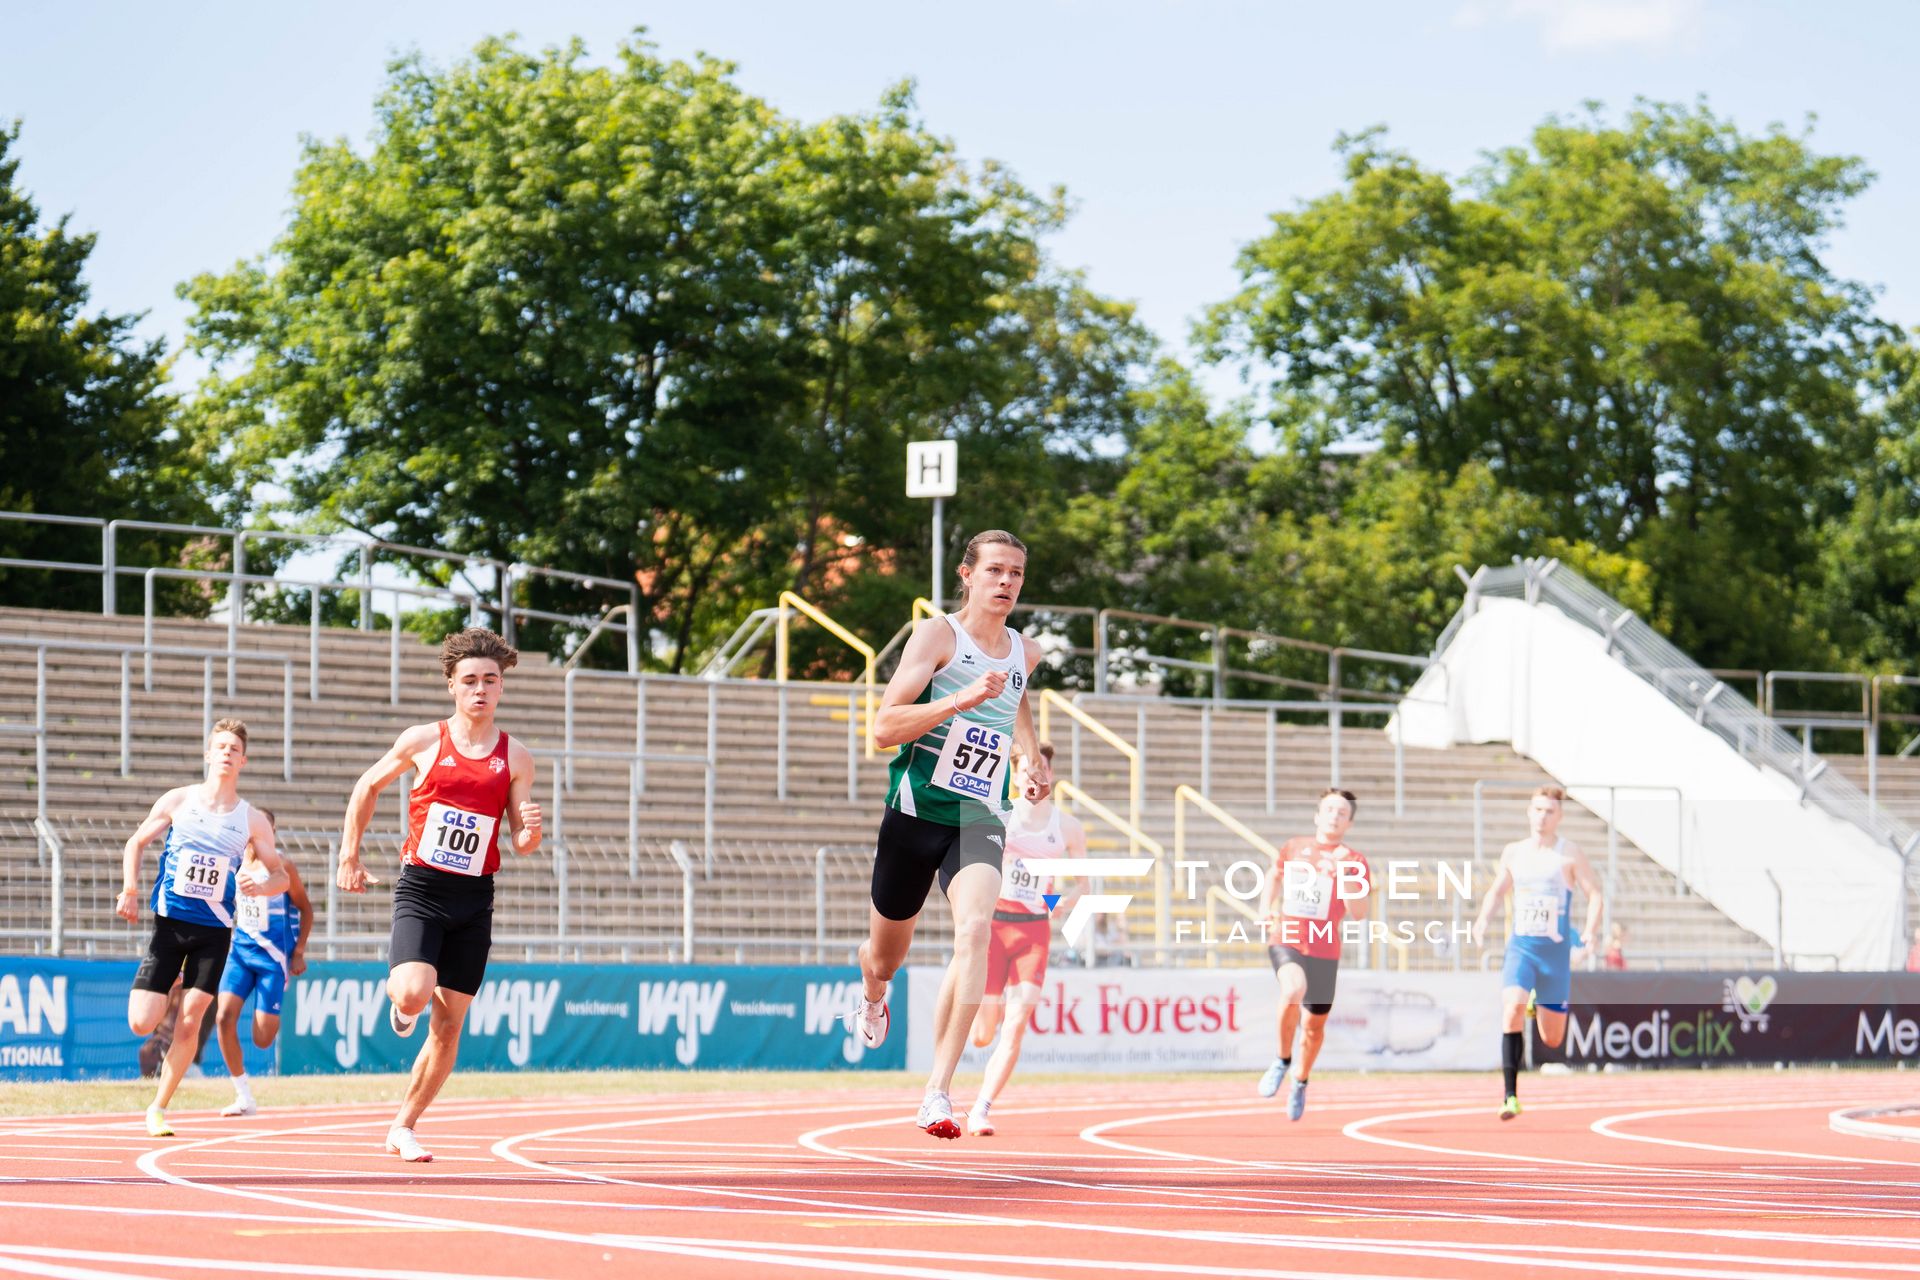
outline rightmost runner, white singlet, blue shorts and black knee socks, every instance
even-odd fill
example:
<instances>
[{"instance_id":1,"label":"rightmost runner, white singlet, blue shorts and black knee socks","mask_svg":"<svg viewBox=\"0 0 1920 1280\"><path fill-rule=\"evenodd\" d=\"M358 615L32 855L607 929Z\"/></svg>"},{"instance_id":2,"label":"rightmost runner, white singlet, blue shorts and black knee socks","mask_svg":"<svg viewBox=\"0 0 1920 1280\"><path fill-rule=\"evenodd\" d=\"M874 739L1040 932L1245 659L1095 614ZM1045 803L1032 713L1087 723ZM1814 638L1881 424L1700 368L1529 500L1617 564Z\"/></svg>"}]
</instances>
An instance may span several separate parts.
<instances>
[{"instance_id":1,"label":"rightmost runner, white singlet, blue shorts and black knee socks","mask_svg":"<svg viewBox=\"0 0 1920 1280\"><path fill-rule=\"evenodd\" d=\"M1521 1113L1521 1063L1526 1061L1526 1019L1534 1017L1540 1040L1559 1048L1567 1038L1567 1002L1572 996L1574 933L1569 921L1572 890L1586 894L1582 936L1599 936L1607 896L1580 846L1559 835L1567 793L1542 787L1526 804L1532 835L1500 850L1500 873L1473 919L1475 946L1486 946L1486 927L1500 902L1513 894L1513 931L1500 971L1501 1036L1500 1073L1505 1102L1500 1119Z\"/></svg>"}]
</instances>

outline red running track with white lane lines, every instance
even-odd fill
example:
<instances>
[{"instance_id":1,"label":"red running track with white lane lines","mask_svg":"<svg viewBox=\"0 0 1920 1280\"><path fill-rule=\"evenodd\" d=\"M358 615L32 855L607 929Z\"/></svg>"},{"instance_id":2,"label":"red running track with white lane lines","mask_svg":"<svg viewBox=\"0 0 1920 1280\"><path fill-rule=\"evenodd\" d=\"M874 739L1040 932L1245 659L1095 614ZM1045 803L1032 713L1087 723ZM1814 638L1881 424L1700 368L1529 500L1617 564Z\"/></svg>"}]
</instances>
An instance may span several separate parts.
<instances>
[{"instance_id":1,"label":"red running track with white lane lines","mask_svg":"<svg viewBox=\"0 0 1920 1280\"><path fill-rule=\"evenodd\" d=\"M1920 1148L1830 1115L1899 1073L1020 1088L995 1138L912 1088L0 1121L0 1276L1914 1276ZM271 1100L271 1082L267 1084Z\"/></svg>"}]
</instances>

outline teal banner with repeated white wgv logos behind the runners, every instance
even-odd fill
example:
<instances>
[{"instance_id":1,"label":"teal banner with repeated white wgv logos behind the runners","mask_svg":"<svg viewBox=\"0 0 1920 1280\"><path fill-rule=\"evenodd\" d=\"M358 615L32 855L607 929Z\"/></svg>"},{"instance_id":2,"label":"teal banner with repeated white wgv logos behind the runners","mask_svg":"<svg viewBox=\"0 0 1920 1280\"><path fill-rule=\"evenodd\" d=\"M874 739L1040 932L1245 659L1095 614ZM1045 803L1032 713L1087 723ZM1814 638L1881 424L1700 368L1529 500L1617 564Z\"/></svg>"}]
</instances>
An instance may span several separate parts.
<instances>
[{"instance_id":1,"label":"teal banner with repeated white wgv logos behind the runners","mask_svg":"<svg viewBox=\"0 0 1920 1280\"><path fill-rule=\"evenodd\" d=\"M488 965L461 1067L887 1069L906 1061L904 1009L866 1050L845 1015L860 983L814 965ZM407 1071L424 1027L388 1027L386 965L315 963L288 992L280 1071Z\"/></svg>"}]
</instances>

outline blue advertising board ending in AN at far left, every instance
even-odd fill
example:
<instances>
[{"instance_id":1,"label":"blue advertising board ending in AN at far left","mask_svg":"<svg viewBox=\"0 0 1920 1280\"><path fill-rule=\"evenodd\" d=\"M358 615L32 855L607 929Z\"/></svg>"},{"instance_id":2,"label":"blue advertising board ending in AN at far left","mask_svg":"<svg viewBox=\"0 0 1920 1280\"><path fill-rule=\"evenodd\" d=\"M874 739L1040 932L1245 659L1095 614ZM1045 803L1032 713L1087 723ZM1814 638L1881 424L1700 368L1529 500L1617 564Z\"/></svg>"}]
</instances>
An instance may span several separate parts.
<instances>
[{"instance_id":1,"label":"blue advertising board ending in AN at far left","mask_svg":"<svg viewBox=\"0 0 1920 1280\"><path fill-rule=\"evenodd\" d=\"M132 960L0 956L0 1080L138 1079L144 1036L127 1029L136 967ZM246 1023L240 1044L252 1075L273 1071L273 1050L253 1048ZM213 1042L202 1063L209 1077L227 1075Z\"/></svg>"}]
</instances>

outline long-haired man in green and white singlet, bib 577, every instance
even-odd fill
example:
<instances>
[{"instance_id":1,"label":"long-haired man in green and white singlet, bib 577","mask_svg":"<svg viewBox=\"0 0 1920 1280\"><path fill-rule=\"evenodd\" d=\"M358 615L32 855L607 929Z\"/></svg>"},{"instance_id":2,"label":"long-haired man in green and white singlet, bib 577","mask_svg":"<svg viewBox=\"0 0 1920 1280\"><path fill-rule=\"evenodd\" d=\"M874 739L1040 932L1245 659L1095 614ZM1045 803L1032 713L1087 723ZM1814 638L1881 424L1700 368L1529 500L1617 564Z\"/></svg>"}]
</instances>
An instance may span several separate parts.
<instances>
[{"instance_id":1,"label":"long-haired man in green and white singlet, bib 577","mask_svg":"<svg viewBox=\"0 0 1920 1280\"><path fill-rule=\"evenodd\" d=\"M872 912L860 946L860 1042L887 1038L887 981L906 963L914 923L939 879L954 917L954 956L933 1027L933 1073L918 1126L958 1138L952 1075L987 986L987 933L1000 896L1006 781L1014 750L1037 760L1033 798L1052 789L1039 760L1029 679L1041 651L1008 626L1027 549L1012 533L975 533L960 557L962 606L914 628L874 716L874 743L899 747L874 841Z\"/></svg>"}]
</instances>

